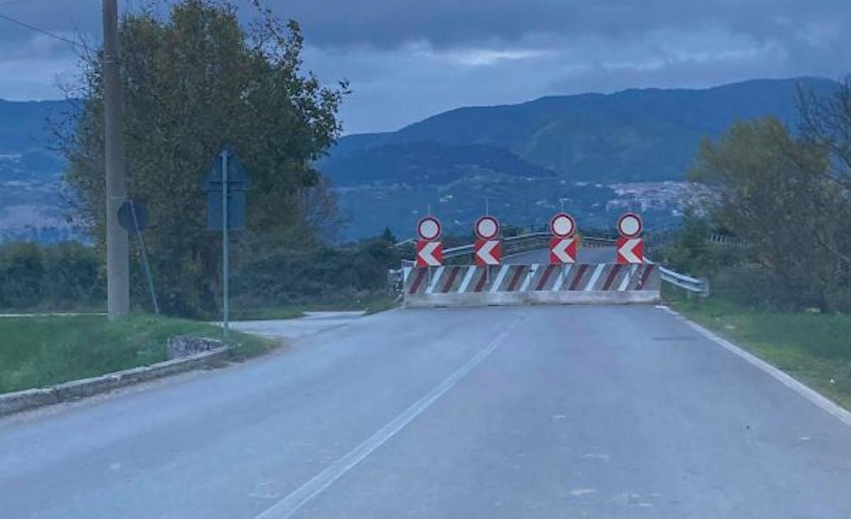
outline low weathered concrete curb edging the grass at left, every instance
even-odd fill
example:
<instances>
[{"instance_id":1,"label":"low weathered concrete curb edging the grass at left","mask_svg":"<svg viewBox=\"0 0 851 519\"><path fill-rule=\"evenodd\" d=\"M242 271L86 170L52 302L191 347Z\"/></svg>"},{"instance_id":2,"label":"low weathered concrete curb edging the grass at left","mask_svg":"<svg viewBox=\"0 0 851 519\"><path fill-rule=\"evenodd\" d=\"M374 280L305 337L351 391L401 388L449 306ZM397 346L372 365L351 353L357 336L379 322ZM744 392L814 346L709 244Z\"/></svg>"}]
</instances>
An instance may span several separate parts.
<instances>
[{"instance_id":1,"label":"low weathered concrete curb edging the grass at left","mask_svg":"<svg viewBox=\"0 0 851 519\"><path fill-rule=\"evenodd\" d=\"M0 416L55 403L78 400L126 385L139 384L147 380L159 379L197 368L205 368L214 362L226 360L227 357L228 348L227 346L222 346L214 350L198 353L197 355L157 362L150 366L125 369L89 379L71 380L70 382L51 387L5 393L0 395Z\"/></svg>"}]
</instances>

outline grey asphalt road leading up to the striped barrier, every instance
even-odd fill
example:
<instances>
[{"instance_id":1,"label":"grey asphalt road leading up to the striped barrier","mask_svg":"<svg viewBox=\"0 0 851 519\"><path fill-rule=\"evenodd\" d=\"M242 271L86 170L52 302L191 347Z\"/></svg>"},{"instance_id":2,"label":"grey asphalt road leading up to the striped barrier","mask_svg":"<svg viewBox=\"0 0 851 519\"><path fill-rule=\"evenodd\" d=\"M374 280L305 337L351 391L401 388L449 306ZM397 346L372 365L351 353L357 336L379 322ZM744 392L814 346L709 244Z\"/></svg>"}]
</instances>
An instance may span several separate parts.
<instances>
[{"instance_id":1,"label":"grey asphalt road leading up to the striped barrier","mask_svg":"<svg viewBox=\"0 0 851 519\"><path fill-rule=\"evenodd\" d=\"M396 310L0 420L0 516L847 519L851 427L654 306Z\"/></svg>"}]
</instances>

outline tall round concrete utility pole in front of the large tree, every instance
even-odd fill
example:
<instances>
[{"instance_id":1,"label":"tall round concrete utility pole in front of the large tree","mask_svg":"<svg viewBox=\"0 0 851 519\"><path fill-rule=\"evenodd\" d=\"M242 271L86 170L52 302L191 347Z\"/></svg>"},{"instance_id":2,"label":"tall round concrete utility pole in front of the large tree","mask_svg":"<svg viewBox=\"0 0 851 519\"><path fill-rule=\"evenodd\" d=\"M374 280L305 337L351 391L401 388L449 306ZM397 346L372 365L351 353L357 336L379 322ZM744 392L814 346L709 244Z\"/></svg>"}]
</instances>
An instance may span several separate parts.
<instances>
[{"instance_id":1,"label":"tall round concrete utility pole in front of the large tree","mask_svg":"<svg viewBox=\"0 0 851 519\"><path fill-rule=\"evenodd\" d=\"M117 0L103 0L104 131L106 133L106 311L109 318L130 310L128 237L118 224L118 208L127 199L121 79L118 76Z\"/></svg>"}]
</instances>

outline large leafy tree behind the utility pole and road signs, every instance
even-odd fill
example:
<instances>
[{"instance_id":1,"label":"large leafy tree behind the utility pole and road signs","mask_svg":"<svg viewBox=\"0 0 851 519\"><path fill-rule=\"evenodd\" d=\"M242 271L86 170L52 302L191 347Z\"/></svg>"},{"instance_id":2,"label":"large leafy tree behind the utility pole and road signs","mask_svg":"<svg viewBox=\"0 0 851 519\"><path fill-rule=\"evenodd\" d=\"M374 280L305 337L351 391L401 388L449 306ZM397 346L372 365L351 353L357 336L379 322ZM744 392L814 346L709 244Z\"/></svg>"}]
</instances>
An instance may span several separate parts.
<instances>
[{"instance_id":1,"label":"large leafy tree behind the utility pole and road signs","mask_svg":"<svg viewBox=\"0 0 851 519\"><path fill-rule=\"evenodd\" d=\"M298 24L254 6L248 29L233 5L213 0L184 0L165 20L146 9L120 24L129 195L149 205L147 244L168 313L215 310L220 240L205 231L200 185L223 143L235 147L252 180L247 231L236 238L243 249L306 241L321 223L310 221L316 212L306 204L328 202L311 163L340 134L347 83L327 88L303 73ZM100 58L83 58L81 110L63 150L77 216L102 248ZM306 191L317 185L323 192L311 199ZM319 213L327 217L328 207Z\"/></svg>"}]
</instances>

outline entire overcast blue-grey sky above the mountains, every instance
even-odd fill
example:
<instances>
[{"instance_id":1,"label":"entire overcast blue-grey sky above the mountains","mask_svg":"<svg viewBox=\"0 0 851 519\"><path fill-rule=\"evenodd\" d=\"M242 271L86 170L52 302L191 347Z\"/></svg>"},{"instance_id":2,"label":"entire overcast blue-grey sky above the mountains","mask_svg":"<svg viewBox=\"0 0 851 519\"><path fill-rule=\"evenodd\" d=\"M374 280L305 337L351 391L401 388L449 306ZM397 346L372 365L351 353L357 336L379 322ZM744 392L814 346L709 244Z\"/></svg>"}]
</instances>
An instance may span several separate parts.
<instances>
[{"instance_id":1,"label":"entire overcast blue-grey sky above the mountains","mask_svg":"<svg viewBox=\"0 0 851 519\"><path fill-rule=\"evenodd\" d=\"M851 0L267 2L300 22L308 68L351 81L346 133L550 94L851 72ZM100 0L0 0L0 14L100 40ZM0 49L0 98L57 99L73 81L66 43L0 20Z\"/></svg>"}]
</instances>

